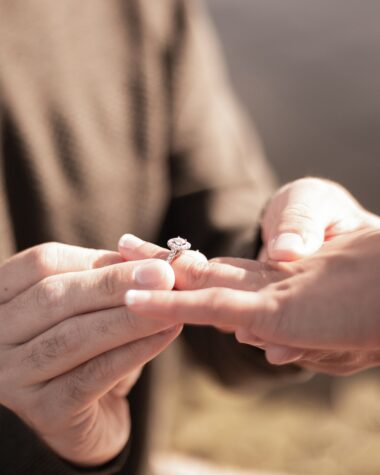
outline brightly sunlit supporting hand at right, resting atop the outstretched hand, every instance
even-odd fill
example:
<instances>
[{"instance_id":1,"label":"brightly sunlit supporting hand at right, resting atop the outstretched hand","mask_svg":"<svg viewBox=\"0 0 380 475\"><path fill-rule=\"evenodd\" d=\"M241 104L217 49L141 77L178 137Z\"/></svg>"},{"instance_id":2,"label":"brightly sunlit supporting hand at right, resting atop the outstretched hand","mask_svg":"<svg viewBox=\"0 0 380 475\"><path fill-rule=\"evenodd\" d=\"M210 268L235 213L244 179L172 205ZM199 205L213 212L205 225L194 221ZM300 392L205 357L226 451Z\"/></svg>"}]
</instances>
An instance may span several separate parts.
<instances>
[{"instance_id":1,"label":"brightly sunlit supporting hand at right, resting atop the outstretched hand","mask_svg":"<svg viewBox=\"0 0 380 475\"><path fill-rule=\"evenodd\" d=\"M379 217L341 185L302 178L282 187L268 203L262 219L260 260L300 259L334 237L373 227L380 227Z\"/></svg>"}]
</instances>

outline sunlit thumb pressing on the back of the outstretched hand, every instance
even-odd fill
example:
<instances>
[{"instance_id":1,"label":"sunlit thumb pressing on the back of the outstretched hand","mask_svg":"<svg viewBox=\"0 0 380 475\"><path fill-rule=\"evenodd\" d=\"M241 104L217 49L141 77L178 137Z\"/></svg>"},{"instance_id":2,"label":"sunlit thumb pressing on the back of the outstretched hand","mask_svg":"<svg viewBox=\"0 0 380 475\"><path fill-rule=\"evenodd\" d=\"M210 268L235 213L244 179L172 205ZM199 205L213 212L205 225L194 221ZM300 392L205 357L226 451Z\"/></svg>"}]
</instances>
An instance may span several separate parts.
<instances>
[{"instance_id":1,"label":"sunlit thumb pressing on the back of the outstretched hand","mask_svg":"<svg viewBox=\"0 0 380 475\"><path fill-rule=\"evenodd\" d=\"M263 220L268 257L293 261L317 252L330 224L330 197L322 180L297 180L282 188L269 203Z\"/></svg>"}]
</instances>

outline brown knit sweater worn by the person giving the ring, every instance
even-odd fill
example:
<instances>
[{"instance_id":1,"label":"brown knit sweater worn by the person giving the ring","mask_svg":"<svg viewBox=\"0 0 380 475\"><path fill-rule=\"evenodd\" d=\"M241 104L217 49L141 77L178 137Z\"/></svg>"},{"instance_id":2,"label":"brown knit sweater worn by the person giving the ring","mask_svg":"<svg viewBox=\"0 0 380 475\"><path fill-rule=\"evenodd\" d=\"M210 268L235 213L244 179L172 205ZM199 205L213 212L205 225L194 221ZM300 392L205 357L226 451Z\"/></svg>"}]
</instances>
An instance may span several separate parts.
<instances>
[{"instance_id":1,"label":"brown knit sweater worn by the person giving the ring","mask_svg":"<svg viewBox=\"0 0 380 475\"><path fill-rule=\"evenodd\" d=\"M113 249L125 232L253 255L271 178L191 0L0 0L0 140L0 262L51 240ZM185 339L226 382L264 371L233 338ZM102 473L147 473L150 372L129 454ZM78 472L0 407L1 474Z\"/></svg>"}]
</instances>

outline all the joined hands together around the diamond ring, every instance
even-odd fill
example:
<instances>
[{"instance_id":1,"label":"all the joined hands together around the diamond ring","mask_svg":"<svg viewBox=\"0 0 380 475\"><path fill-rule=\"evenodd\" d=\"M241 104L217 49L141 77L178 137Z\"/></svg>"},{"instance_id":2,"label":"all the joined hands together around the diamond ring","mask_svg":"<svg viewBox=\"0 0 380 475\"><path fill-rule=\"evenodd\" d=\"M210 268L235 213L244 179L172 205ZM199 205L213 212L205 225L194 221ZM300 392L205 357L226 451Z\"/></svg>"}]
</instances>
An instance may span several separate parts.
<instances>
[{"instance_id":1,"label":"all the joined hands together around the diamond ring","mask_svg":"<svg viewBox=\"0 0 380 475\"><path fill-rule=\"evenodd\" d=\"M342 188L301 180L267 208L267 262L188 252L172 268L167 250L130 235L120 253L24 251L0 267L0 403L63 458L99 465L129 438L125 396L141 368L183 323L234 331L273 363L377 365L378 227Z\"/></svg>"}]
</instances>

